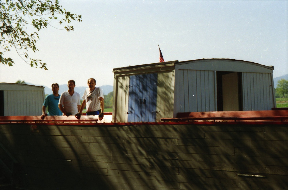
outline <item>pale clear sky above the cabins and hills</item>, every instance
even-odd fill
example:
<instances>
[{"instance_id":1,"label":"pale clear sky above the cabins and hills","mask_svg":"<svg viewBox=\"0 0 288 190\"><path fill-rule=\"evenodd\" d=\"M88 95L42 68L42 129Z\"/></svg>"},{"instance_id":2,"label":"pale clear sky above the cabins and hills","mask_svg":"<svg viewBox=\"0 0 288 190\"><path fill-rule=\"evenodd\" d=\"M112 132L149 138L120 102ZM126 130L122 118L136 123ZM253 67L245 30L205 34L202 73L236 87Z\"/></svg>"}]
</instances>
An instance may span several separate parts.
<instances>
[{"instance_id":1,"label":"pale clear sky above the cabins and hills","mask_svg":"<svg viewBox=\"0 0 288 190\"><path fill-rule=\"evenodd\" d=\"M82 15L66 32L56 22L39 31L33 58L48 71L31 68L11 53L0 64L0 82L45 85L113 85L113 68L165 61L229 58L273 65L273 77L288 73L288 0L60 0ZM64 26L62 26L64 27Z\"/></svg>"}]
</instances>

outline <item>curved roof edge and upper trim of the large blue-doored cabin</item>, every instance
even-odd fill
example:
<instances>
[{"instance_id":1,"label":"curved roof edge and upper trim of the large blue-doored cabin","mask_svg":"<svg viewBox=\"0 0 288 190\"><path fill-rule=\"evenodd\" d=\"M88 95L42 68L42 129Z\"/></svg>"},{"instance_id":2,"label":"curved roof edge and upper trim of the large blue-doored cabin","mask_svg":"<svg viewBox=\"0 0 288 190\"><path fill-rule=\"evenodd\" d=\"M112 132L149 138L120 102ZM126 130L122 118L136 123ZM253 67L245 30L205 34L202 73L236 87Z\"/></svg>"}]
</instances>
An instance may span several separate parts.
<instances>
[{"instance_id":1,"label":"curved roof edge and upper trim of the large blue-doored cabin","mask_svg":"<svg viewBox=\"0 0 288 190\"><path fill-rule=\"evenodd\" d=\"M255 73L273 73L273 66L266 66L250 61L234 59L197 59L188 61L167 61L159 63L150 63L134 66L126 66L113 69L115 75L136 74L151 72L151 70L163 71L171 69L189 69L206 71L233 71L233 72L255 72Z\"/></svg>"}]
</instances>

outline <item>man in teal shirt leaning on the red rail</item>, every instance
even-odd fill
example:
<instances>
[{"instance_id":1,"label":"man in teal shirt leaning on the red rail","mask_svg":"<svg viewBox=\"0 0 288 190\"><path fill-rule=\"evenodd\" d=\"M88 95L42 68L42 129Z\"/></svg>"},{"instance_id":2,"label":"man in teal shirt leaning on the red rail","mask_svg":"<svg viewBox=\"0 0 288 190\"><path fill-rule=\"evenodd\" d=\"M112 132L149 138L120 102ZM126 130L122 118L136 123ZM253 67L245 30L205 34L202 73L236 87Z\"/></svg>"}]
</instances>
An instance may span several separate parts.
<instances>
[{"instance_id":1,"label":"man in teal shirt leaning on the red rail","mask_svg":"<svg viewBox=\"0 0 288 190\"><path fill-rule=\"evenodd\" d=\"M48 106L48 115L62 115L62 112L58 108L58 103L60 99L59 85L54 83L51 85L53 94L46 96L43 106L42 106L42 115L41 119L45 118L46 107Z\"/></svg>"}]
</instances>

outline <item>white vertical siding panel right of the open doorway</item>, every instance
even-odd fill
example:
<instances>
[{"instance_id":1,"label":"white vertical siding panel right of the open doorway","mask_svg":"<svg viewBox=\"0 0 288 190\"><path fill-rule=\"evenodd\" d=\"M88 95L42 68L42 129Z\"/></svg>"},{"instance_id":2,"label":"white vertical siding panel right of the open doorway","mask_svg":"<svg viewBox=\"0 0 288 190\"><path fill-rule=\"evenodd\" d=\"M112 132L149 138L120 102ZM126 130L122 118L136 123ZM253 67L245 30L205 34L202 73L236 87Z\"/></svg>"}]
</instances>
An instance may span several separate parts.
<instances>
[{"instance_id":1,"label":"white vertical siding panel right of the open doorway","mask_svg":"<svg viewBox=\"0 0 288 190\"><path fill-rule=\"evenodd\" d=\"M271 73L242 73L243 110L271 110L275 107Z\"/></svg>"}]
</instances>

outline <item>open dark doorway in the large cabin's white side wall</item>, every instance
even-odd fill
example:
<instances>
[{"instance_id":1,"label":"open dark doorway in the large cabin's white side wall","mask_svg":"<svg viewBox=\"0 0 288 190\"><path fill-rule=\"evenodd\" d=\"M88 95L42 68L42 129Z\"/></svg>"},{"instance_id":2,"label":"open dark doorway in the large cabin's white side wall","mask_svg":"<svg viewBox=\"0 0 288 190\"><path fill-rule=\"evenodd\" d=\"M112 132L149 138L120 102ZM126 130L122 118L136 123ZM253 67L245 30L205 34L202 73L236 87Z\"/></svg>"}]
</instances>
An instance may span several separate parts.
<instances>
[{"instance_id":1,"label":"open dark doorway in the large cabin's white side wall","mask_svg":"<svg viewBox=\"0 0 288 190\"><path fill-rule=\"evenodd\" d=\"M217 71L217 110L241 111L242 75L240 72Z\"/></svg>"}]
</instances>

